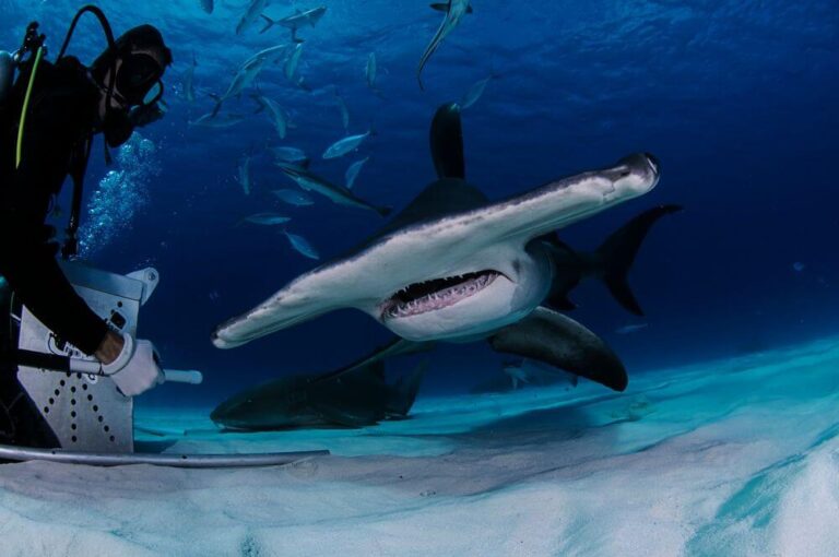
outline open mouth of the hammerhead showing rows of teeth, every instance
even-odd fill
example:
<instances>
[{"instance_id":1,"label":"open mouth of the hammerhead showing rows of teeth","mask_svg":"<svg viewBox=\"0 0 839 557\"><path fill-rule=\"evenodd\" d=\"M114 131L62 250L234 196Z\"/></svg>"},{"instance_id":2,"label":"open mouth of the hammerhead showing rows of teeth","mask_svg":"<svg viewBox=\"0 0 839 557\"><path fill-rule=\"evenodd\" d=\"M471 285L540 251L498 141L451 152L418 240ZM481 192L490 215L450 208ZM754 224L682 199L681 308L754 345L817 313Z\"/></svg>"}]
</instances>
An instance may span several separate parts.
<instances>
[{"instance_id":1,"label":"open mouth of the hammerhead showing rows of teeth","mask_svg":"<svg viewBox=\"0 0 839 557\"><path fill-rule=\"evenodd\" d=\"M480 271L411 284L381 305L381 319L418 316L453 306L489 286L500 273Z\"/></svg>"}]
</instances>

